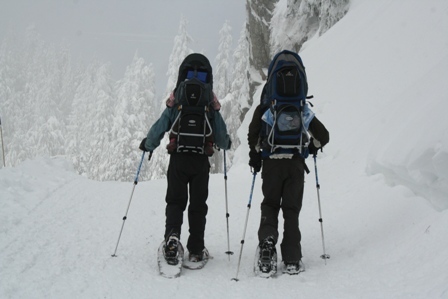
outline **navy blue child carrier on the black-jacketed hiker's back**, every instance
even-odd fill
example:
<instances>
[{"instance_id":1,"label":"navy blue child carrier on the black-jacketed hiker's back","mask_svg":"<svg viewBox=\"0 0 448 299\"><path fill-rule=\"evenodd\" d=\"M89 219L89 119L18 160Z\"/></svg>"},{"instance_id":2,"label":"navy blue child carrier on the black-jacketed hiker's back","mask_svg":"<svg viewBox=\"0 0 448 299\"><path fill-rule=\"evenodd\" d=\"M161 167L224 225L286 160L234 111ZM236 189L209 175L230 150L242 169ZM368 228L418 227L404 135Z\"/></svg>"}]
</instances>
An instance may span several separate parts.
<instances>
[{"instance_id":1,"label":"navy blue child carrier on the black-jacketed hiker's back","mask_svg":"<svg viewBox=\"0 0 448 299\"><path fill-rule=\"evenodd\" d=\"M308 125L314 114L306 103L307 92L305 67L300 56L287 50L276 54L269 65L260 103L263 157L308 156Z\"/></svg>"}]
</instances>

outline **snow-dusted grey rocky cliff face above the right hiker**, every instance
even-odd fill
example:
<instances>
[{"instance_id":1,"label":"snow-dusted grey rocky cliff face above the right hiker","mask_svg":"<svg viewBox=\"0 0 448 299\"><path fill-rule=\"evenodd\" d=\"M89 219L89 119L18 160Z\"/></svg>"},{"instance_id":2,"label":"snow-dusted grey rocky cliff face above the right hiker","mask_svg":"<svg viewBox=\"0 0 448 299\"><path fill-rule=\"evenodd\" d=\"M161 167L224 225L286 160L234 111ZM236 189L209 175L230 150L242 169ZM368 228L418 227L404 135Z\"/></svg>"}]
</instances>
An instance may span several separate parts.
<instances>
[{"instance_id":1,"label":"snow-dusted grey rocky cliff face above the right hiker","mask_svg":"<svg viewBox=\"0 0 448 299\"><path fill-rule=\"evenodd\" d=\"M350 0L246 0L252 73L250 94L265 80L272 56L283 49L299 52L316 34L322 35L342 19ZM256 101L256 100L255 100Z\"/></svg>"}]
</instances>

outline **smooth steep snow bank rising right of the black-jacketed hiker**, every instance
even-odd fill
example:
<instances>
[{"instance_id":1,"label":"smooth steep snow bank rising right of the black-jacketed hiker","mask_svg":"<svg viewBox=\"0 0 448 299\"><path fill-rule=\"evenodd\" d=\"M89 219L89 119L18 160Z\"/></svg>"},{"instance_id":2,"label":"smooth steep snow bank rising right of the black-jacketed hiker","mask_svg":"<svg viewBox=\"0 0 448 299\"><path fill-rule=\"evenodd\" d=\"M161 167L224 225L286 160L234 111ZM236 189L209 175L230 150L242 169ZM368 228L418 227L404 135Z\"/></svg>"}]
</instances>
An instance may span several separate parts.
<instances>
[{"instance_id":1,"label":"smooth steep snow bank rising right of the black-jacketed hiker","mask_svg":"<svg viewBox=\"0 0 448 299\"><path fill-rule=\"evenodd\" d=\"M439 211L448 208L446 11L443 1L353 1L302 54L329 149Z\"/></svg>"}]
</instances>

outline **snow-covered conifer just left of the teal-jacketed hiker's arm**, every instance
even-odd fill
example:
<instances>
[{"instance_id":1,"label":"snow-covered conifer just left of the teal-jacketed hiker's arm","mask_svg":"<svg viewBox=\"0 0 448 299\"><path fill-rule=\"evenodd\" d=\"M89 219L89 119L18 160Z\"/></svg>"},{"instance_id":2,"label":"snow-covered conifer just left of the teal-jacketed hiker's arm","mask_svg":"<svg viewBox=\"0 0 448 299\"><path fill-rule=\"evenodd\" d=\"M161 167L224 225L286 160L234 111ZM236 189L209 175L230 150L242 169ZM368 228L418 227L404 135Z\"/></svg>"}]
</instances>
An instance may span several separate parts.
<instances>
[{"instance_id":1,"label":"snow-covered conifer just left of the teal-jacketed hiker's arm","mask_svg":"<svg viewBox=\"0 0 448 299\"><path fill-rule=\"evenodd\" d=\"M140 141L155 120L159 105L155 102L155 79L152 65L136 53L126 68L124 78L115 85L116 104L108 146L104 179L132 181L140 160ZM150 169L142 167L140 178L150 177Z\"/></svg>"}]
</instances>

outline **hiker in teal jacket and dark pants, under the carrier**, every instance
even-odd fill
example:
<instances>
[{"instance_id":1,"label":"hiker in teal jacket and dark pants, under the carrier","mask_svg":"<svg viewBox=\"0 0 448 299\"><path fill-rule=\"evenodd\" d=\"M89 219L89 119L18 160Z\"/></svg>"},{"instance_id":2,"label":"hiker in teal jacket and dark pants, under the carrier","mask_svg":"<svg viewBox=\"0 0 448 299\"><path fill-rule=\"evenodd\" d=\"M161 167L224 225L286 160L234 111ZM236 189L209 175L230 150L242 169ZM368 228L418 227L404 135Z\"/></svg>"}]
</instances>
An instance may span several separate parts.
<instances>
[{"instance_id":1,"label":"hiker in teal jacket and dark pants, under the carrier","mask_svg":"<svg viewBox=\"0 0 448 299\"><path fill-rule=\"evenodd\" d=\"M212 83L212 68L208 59L201 54L190 54L179 67L178 84L187 77L188 69L201 69L207 72L207 83ZM166 132L175 123L180 109L173 93L166 102L166 108L160 118L150 128L147 137L140 144L140 149L149 152L151 159L153 151L160 145ZM219 113L219 102L216 98L210 103L210 125L213 130L214 143L221 149L229 149L231 142L227 128ZM168 263L177 263L178 244L180 243L183 212L188 206L189 238L187 249L190 261L201 261L208 254L204 245L204 232L208 207L209 156L210 152L177 152L175 144L170 143L167 149L170 162L167 172L166 193L166 223L165 223L165 259ZM205 146L205 145L204 145ZM211 153L212 154L212 153Z\"/></svg>"}]
</instances>

